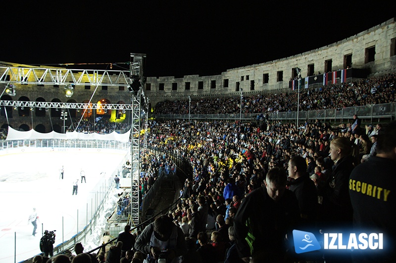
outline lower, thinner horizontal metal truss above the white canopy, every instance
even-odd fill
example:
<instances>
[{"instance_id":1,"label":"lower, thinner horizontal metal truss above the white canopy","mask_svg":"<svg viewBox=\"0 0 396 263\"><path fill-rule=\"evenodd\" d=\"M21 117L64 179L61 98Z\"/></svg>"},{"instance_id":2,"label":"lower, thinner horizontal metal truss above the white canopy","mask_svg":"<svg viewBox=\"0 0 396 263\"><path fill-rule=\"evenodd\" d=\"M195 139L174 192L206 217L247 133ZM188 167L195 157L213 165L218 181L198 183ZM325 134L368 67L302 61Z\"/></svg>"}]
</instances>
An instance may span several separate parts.
<instances>
[{"instance_id":1,"label":"lower, thinner horizontal metal truss above the white canopy","mask_svg":"<svg viewBox=\"0 0 396 263\"><path fill-rule=\"evenodd\" d=\"M97 103L67 103L67 102L38 102L0 100L0 106L29 107L29 108L59 108L59 109L107 109L132 110L132 104L97 104Z\"/></svg>"}]
</instances>

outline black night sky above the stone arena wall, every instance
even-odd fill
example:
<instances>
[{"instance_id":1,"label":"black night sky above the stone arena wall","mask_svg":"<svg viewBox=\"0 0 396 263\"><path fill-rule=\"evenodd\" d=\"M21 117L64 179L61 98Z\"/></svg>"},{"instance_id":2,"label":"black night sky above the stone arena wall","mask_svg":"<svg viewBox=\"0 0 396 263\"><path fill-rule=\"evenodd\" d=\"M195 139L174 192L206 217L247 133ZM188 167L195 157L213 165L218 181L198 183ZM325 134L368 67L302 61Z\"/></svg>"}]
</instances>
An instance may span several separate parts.
<instances>
[{"instance_id":1,"label":"black night sky above the stone arena wall","mask_svg":"<svg viewBox=\"0 0 396 263\"><path fill-rule=\"evenodd\" d=\"M350 1L6 1L0 61L113 63L146 53L146 77L218 75L332 44L396 17ZM142 1L143 2L143 1ZM194 3L193 3L194 2ZM105 65L69 68L108 68Z\"/></svg>"}]
</instances>

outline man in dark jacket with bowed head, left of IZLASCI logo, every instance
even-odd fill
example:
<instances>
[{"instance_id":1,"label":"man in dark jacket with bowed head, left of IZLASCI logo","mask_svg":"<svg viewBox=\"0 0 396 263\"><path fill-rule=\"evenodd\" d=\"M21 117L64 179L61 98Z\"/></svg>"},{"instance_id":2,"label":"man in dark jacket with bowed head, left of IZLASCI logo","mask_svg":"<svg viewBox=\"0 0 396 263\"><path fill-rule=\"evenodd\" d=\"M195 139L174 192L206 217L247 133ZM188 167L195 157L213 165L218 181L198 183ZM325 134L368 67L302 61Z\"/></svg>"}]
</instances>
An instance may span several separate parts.
<instances>
[{"instance_id":1,"label":"man in dark jacket with bowed head, left of IZLASCI logo","mask_svg":"<svg viewBox=\"0 0 396 263\"><path fill-rule=\"evenodd\" d=\"M286 234L299 220L296 196L286 189L286 172L268 171L265 188L257 188L243 200L234 219L237 248L242 259L264 253L282 261Z\"/></svg>"}]
</instances>

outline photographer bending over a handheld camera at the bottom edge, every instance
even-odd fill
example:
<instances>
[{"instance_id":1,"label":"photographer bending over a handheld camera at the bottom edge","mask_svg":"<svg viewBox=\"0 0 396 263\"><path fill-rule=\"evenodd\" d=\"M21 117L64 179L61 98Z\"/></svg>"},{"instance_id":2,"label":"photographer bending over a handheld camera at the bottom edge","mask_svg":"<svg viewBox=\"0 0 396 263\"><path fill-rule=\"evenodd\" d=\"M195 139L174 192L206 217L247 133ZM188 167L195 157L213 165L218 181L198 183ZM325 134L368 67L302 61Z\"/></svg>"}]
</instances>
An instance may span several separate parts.
<instances>
[{"instance_id":1,"label":"photographer bending over a handheld camera at the bottom edge","mask_svg":"<svg viewBox=\"0 0 396 263\"><path fill-rule=\"evenodd\" d=\"M187 253L183 231L168 216L161 216L150 223L138 236L135 248L148 255L148 262L166 259L166 262L177 262L180 256Z\"/></svg>"}]
</instances>

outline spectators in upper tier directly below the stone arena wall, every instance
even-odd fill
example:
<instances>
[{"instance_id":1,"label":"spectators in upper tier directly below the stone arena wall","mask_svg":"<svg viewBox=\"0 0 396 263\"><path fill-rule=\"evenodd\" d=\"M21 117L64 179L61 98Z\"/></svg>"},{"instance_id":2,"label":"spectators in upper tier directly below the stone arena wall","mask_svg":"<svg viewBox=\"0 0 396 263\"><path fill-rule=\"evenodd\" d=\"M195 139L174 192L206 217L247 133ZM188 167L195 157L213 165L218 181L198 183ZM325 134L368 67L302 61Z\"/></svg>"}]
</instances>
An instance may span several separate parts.
<instances>
[{"instance_id":1,"label":"spectators in upper tier directly below the stone arena wall","mask_svg":"<svg viewBox=\"0 0 396 263\"><path fill-rule=\"evenodd\" d=\"M301 88L299 110L335 109L395 102L395 74L372 77L352 83L318 88ZM191 114L237 114L241 97L192 99ZM242 113L297 111L297 91L257 94L243 97ZM189 100L159 101L157 114L188 114Z\"/></svg>"}]
</instances>

